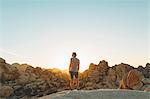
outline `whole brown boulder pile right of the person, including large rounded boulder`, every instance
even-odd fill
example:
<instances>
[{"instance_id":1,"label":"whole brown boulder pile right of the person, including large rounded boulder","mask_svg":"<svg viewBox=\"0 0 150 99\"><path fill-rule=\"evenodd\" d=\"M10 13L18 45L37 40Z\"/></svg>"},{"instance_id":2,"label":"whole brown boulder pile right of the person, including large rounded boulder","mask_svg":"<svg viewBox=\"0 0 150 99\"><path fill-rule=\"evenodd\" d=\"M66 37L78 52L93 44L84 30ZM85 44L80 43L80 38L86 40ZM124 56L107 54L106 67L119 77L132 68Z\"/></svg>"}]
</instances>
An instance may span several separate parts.
<instances>
[{"instance_id":1,"label":"whole brown boulder pile right of the person, including large rounded boulder","mask_svg":"<svg viewBox=\"0 0 150 99\"><path fill-rule=\"evenodd\" d=\"M89 69L80 74L80 89L132 89L150 90L150 64L145 68L134 68L125 63L112 67L105 60L98 65L91 63Z\"/></svg>"}]
</instances>

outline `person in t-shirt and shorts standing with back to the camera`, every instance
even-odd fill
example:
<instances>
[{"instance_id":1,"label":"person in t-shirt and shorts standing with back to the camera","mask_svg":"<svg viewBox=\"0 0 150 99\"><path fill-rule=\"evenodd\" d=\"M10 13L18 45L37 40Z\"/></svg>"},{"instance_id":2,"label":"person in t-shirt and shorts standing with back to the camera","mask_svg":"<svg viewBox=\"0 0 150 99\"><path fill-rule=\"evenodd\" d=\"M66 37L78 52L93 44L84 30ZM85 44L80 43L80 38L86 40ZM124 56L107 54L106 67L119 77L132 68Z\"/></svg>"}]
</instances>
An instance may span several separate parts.
<instances>
[{"instance_id":1,"label":"person in t-shirt and shorts standing with back to the camera","mask_svg":"<svg viewBox=\"0 0 150 99\"><path fill-rule=\"evenodd\" d=\"M80 60L76 58L77 54L75 52L72 53L72 58L70 60L69 66L69 73L70 73L70 88L73 89L74 83L76 87L79 87L79 80L78 80L78 72L80 66ZM74 80L75 77L75 80Z\"/></svg>"}]
</instances>

